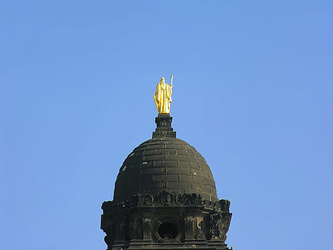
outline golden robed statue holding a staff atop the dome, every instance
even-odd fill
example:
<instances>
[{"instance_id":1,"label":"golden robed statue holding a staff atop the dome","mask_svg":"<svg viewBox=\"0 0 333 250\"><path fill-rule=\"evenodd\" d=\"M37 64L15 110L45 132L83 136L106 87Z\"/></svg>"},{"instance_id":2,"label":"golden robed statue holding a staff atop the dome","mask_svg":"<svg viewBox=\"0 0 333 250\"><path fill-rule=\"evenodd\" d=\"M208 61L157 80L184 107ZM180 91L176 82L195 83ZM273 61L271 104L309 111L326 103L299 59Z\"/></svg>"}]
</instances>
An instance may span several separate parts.
<instances>
[{"instance_id":1,"label":"golden robed statue holding a staff atop the dome","mask_svg":"<svg viewBox=\"0 0 333 250\"><path fill-rule=\"evenodd\" d=\"M153 101L155 101L158 114L170 114L171 92L172 92L172 79L169 86L164 82L164 77L161 78L161 82L156 86L155 95L153 95Z\"/></svg>"}]
</instances>

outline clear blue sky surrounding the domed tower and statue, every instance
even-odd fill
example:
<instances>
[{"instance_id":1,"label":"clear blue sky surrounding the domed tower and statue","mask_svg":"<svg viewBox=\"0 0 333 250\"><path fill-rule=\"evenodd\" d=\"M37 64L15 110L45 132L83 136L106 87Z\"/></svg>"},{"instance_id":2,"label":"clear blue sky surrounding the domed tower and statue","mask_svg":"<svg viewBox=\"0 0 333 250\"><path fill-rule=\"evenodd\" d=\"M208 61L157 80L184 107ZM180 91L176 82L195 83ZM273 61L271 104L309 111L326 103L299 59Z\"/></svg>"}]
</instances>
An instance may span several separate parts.
<instances>
[{"instance_id":1,"label":"clear blue sky surrounding the domed tower and statue","mask_svg":"<svg viewBox=\"0 0 333 250\"><path fill-rule=\"evenodd\" d=\"M1 1L0 36L0 249L106 249L101 203L171 74L227 244L333 249L332 1Z\"/></svg>"}]
</instances>

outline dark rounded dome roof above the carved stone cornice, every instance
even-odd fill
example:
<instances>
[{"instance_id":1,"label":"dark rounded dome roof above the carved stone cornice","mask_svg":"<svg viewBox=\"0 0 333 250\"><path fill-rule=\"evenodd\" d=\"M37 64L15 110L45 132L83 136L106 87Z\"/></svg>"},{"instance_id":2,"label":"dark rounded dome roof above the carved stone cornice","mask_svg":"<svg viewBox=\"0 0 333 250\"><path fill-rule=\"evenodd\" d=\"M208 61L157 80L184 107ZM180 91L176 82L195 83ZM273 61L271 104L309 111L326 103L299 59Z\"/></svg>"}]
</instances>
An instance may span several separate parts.
<instances>
[{"instance_id":1,"label":"dark rounded dome roof above the carved stone cornice","mask_svg":"<svg viewBox=\"0 0 333 250\"><path fill-rule=\"evenodd\" d=\"M147 140L127 156L116 179L114 201L130 201L132 195L162 191L197 193L204 200L219 201L206 160L175 136Z\"/></svg>"}]
</instances>

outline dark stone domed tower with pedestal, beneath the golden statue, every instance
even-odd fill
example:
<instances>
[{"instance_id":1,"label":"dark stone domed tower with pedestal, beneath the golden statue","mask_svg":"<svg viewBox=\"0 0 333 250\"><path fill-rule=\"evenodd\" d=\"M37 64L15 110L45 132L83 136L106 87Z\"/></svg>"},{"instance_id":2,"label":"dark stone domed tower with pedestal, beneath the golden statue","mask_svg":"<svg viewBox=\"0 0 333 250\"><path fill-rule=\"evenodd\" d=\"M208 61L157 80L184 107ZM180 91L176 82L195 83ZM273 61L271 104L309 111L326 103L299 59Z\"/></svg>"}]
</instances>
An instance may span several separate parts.
<instances>
[{"instance_id":1,"label":"dark stone domed tower with pedestal, beneath the golden statue","mask_svg":"<svg viewBox=\"0 0 333 250\"><path fill-rule=\"evenodd\" d=\"M170 114L158 114L153 138L127 156L113 201L103 202L108 250L229 249L230 201L217 198L206 160L176 138L171 121Z\"/></svg>"}]
</instances>

